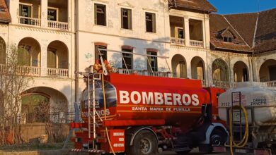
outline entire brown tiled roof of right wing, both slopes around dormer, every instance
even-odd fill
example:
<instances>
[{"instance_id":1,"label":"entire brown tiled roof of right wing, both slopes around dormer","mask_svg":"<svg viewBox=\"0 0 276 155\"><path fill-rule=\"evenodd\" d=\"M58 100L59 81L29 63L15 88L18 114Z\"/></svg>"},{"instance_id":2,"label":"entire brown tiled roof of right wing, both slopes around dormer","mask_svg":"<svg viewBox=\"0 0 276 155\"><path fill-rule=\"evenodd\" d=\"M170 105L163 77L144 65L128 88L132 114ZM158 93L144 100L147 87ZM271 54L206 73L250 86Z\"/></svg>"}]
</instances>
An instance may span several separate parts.
<instances>
[{"instance_id":1,"label":"entire brown tiled roof of right wing, both slopes around dormer","mask_svg":"<svg viewBox=\"0 0 276 155\"><path fill-rule=\"evenodd\" d=\"M252 51L255 54L276 50L276 8L260 13L210 14L210 43L216 49ZM219 33L229 28L236 36L224 42Z\"/></svg>"}]
</instances>

